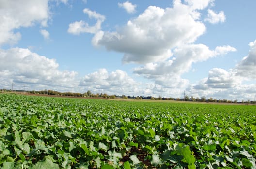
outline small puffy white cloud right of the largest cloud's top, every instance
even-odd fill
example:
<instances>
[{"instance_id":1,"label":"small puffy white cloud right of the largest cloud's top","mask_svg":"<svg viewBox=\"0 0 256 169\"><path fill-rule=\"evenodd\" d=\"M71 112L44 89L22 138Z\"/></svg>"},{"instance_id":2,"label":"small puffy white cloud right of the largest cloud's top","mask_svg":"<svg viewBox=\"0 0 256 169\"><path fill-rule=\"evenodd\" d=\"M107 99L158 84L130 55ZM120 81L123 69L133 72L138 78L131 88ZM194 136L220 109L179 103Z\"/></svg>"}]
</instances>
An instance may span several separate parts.
<instances>
[{"instance_id":1,"label":"small puffy white cloud right of the largest cloud's top","mask_svg":"<svg viewBox=\"0 0 256 169\"><path fill-rule=\"evenodd\" d=\"M208 14L207 14L207 18L205 19L205 21L211 23L211 24L217 24L219 22L225 22L226 20L226 16L224 15L223 11L220 11L219 14L217 14L216 12L214 12L211 9L208 9Z\"/></svg>"}]
</instances>

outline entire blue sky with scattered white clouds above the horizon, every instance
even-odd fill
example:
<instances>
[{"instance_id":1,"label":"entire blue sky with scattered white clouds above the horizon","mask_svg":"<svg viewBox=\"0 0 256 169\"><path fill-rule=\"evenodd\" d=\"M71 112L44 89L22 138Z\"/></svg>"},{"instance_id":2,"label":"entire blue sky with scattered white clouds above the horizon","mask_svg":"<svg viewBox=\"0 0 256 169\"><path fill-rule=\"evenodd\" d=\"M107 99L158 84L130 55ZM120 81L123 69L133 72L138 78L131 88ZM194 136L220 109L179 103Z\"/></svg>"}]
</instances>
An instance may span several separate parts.
<instances>
[{"instance_id":1,"label":"entire blue sky with scattered white clouds above the horizon","mask_svg":"<svg viewBox=\"0 0 256 169\"><path fill-rule=\"evenodd\" d=\"M255 0L0 0L0 88L256 96Z\"/></svg>"}]
</instances>

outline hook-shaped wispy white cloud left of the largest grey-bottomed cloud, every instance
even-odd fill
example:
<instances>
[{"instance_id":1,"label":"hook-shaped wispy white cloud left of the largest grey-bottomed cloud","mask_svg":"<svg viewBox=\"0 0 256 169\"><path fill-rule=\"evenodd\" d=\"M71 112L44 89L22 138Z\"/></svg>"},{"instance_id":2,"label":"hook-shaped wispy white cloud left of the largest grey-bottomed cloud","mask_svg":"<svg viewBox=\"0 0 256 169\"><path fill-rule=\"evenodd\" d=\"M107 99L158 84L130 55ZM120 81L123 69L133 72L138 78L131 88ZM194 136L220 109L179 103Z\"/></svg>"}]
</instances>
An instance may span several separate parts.
<instances>
[{"instance_id":1,"label":"hook-shaped wispy white cloud left of the largest grey-bottomed cloud","mask_svg":"<svg viewBox=\"0 0 256 169\"><path fill-rule=\"evenodd\" d=\"M79 35L80 33L97 33L101 29L101 24L105 20L105 16L96 13L95 11L91 11L88 8L83 10L85 14L88 14L89 18L96 19L96 24L90 26L83 20L73 22L69 24L68 32L71 34Z\"/></svg>"}]
</instances>

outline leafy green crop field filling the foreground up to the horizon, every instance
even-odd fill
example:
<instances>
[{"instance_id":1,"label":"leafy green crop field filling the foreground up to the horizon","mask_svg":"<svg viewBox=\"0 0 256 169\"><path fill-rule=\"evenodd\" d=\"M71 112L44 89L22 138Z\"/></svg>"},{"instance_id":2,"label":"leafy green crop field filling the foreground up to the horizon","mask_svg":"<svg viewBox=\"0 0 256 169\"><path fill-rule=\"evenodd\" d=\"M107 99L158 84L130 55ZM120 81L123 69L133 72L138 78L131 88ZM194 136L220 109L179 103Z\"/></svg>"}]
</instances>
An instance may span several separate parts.
<instances>
[{"instance_id":1,"label":"leafy green crop field filling the foreground up to the horizon","mask_svg":"<svg viewBox=\"0 0 256 169\"><path fill-rule=\"evenodd\" d=\"M3 169L256 168L256 106L0 94Z\"/></svg>"}]
</instances>

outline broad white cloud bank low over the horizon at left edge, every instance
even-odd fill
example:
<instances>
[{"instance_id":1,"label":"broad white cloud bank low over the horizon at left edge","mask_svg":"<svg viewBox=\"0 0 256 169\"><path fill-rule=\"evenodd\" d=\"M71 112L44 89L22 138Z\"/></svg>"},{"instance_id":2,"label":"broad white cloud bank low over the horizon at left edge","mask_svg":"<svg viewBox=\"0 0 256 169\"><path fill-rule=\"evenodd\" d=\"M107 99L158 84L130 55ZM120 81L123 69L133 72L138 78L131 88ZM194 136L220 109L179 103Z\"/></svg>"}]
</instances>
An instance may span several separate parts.
<instances>
[{"instance_id":1,"label":"broad white cloud bank low over the horizon at left edge","mask_svg":"<svg viewBox=\"0 0 256 169\"><path fill-rule=\"evenodd\" d=\"M10 88L12 81L27 84L31 89L73 90L77 86L74 71L61 71L54 59L32 53L29 49L0 49L0 79Z\"/></svg>"}]
</instances>

